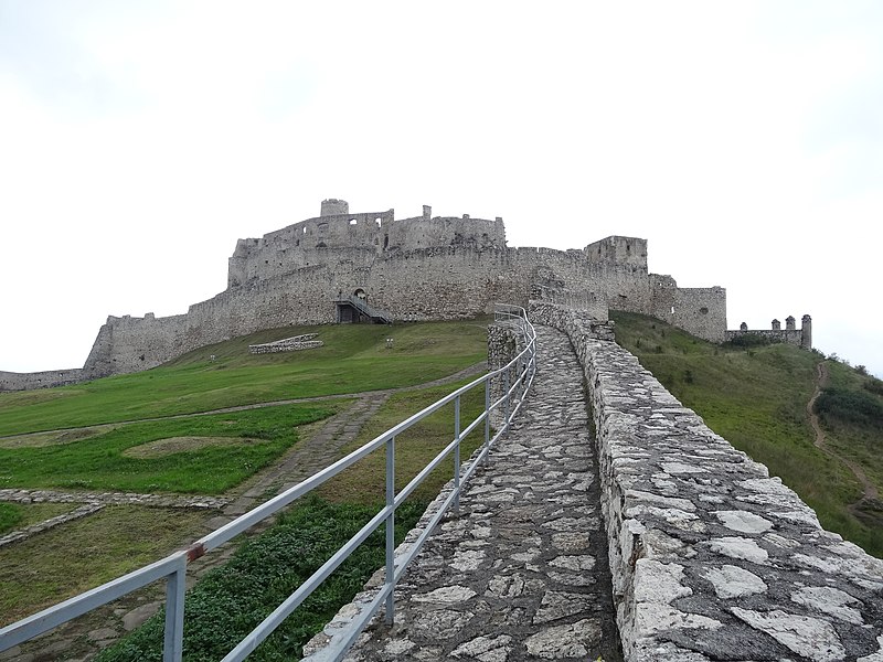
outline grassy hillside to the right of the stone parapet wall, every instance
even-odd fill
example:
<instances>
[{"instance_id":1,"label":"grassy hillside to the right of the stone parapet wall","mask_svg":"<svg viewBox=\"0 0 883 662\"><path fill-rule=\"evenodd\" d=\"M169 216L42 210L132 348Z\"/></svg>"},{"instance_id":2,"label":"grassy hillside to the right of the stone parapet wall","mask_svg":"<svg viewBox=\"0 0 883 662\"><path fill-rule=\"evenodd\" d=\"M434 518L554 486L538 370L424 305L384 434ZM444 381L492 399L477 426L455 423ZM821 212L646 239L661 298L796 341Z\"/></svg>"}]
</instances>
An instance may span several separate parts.
<instances>
[{"instance_id":1,"label":"grassy hillside to the right of the stone parapet wall","mask_svg":"<svg viewBox=\"0 0 883 662\"><path fill-rule=\"evenodd\" d=\"M709 427L779 476L826 528L883 556L880 501L863 498L866 485L849 466L872 488L883 488L883 383L817 352L783 344L722 346L653 318L610 317L617 342ZM817 447L807 405L820 363L828 378L817 402L825 434Z\"/></svg>"}]
</instances>

